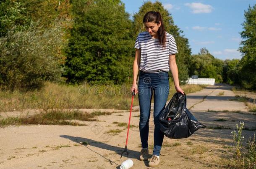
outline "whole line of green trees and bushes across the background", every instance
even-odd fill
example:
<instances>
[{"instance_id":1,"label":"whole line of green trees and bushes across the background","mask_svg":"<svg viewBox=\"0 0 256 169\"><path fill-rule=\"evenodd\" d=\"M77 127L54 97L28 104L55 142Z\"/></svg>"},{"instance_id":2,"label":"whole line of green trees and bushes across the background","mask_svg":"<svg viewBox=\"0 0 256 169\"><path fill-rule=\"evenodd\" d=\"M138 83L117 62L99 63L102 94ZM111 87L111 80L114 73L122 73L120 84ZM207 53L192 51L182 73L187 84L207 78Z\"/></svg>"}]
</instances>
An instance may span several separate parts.
<instances>
[{"instance_id":1,"label":"whole line of green trees and bushes across the background","mask_svg":"<svg viewBox=\"0 0 256 169\"><path fill-rule=\"evenodd\" d=\"M130 83L135 43L145 31L142 19L159 11L166 31L176 40L180 81L198 75L256 89L256 5L245 11L241 60L222 61L206 48L191 55L188 39L172 15L156 1L138 13L125 12L120 0L3 0L0 2L0 84L34 89L44 81Z\"/></svg>"}]
</instances>

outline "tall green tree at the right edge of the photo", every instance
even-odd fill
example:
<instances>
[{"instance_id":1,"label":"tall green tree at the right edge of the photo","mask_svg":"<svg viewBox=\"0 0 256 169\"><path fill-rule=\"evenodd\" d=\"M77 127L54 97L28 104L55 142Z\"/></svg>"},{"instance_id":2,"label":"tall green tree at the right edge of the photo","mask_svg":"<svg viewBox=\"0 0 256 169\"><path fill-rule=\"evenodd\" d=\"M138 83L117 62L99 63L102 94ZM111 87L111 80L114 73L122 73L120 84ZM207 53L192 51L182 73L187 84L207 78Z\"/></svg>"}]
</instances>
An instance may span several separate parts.
<instances>
[{"instance_id":1,"label":"tall green tree at the right edge of the photo","mask_svg":"<svg viewBox=\"0 0 256 169\"><path fill-rule=\"evenodd\" d=\"M245 11L245 21L243 22L243 31L240 32L243 40L239 50L243 57L239 63L240 84L247 89L256 90L256 5L252 8L249 5Z\"/></svg>"}]
</instances>

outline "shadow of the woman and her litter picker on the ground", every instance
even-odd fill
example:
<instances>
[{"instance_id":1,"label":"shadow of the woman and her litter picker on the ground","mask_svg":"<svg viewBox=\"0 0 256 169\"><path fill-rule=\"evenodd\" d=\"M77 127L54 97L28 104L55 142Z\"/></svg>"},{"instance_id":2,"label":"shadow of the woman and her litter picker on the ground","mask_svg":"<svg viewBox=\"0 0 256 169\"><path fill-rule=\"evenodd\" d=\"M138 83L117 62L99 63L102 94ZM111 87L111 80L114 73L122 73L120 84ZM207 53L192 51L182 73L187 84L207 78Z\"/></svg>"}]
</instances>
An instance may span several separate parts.
<instances>
[{"instance_id":1,"label":"shadow of the woman and her litter picker on the ground","mask_svg":"<svg viewBox=\"0 0 256 169\"><path fill-rule=\"evenodd\" d=\"M106 143L102 143L100 141L94 141L91 139L87 139L87 138L82 138L82 137L74 137L74 136L68 136L68 135L61 135L60 137L63 137L65 139L70 139L71 141L74 141L76 143L82 144L82 143L88 143L88 144L82 144L84 146L86 146L87 149L97 153L98 155L102 156L102 154L99 154L98 152L90 149L90 147L88 147L87 145L90 146L95 146L95 147L99 147L101 149L106 149L106 150L110 150L110 151L115 151L116 154L119 154L121 157L121 153L124 150L124 147L117 147L117 146L111 146L109 144ZM129 159L138 159L140 152L138 151L133 151L133 150L128 150L129 151ZM110 162L111 165L115 164L117 165L117 169L120 168L120 164L115 163L115 161L112 161L110 159L107 159L105 156L102 156L104 159L106 159L107 161ZM127 153L123 153L123 161L125 161L127 158ZM144 163L146 164L146 161L144 161Z\"/></svg>"}]
</instances>

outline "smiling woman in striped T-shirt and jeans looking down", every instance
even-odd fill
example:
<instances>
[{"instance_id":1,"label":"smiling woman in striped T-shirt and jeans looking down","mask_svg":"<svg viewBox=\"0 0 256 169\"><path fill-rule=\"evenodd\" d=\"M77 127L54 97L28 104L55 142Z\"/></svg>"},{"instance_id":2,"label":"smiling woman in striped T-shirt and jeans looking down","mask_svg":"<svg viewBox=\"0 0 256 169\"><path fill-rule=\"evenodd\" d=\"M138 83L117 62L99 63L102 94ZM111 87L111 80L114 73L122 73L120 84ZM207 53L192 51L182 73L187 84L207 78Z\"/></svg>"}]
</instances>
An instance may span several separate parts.
<instances>
[{"instance_id":1,"label":"smiling woman in striped T-shirt and jeans looking down","mask_svg":"<svg viewBox=\"0 0 256 169\"><path fill-rule=\"evenodd\" d=\"M178 78L175 54L178 53L174 37L165 32L159 12L150 11L144 15L146 32L139 33L134 47L133 86L131 91L138 93L140 106L139 131L141 137L140 160L148 160L149 116L154 93L154 150L149 166L156 167L160 162L160 150L164 134L159 129L159 115L165 108L169 94L169 76L171 70L177 92L183 93ZM139 74L138 87L136 79Z\"/></svg>"}]
</instances>

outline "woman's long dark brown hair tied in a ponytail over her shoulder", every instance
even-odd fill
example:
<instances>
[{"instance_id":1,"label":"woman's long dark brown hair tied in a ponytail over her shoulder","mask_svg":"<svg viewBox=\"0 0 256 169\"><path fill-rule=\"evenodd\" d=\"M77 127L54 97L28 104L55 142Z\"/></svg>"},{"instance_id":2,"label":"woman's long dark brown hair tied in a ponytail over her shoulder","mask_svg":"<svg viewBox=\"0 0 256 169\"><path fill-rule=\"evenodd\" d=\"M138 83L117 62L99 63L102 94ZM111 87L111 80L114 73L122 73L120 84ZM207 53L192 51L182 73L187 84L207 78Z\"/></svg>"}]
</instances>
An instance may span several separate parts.
<instances>
[{"instance_id":1,"label":"woman's long dark brown hair tied in a ponytail over her shoulder","mask_svg":"<svg viewBox=\"0 0 256 169\"><path fill-rule=\"evenodd\" d=\"M157 33L159 36L159 43L165 48L165 40L166 40L166 36L165 36L165 25L164 22L162 20L162 16L159 12L157 11L149 11L144 15L143 18L143 23L146 22L154 22L159 24L161 22L161 26L159 27Z\"/></svg>"}]
</instances>

